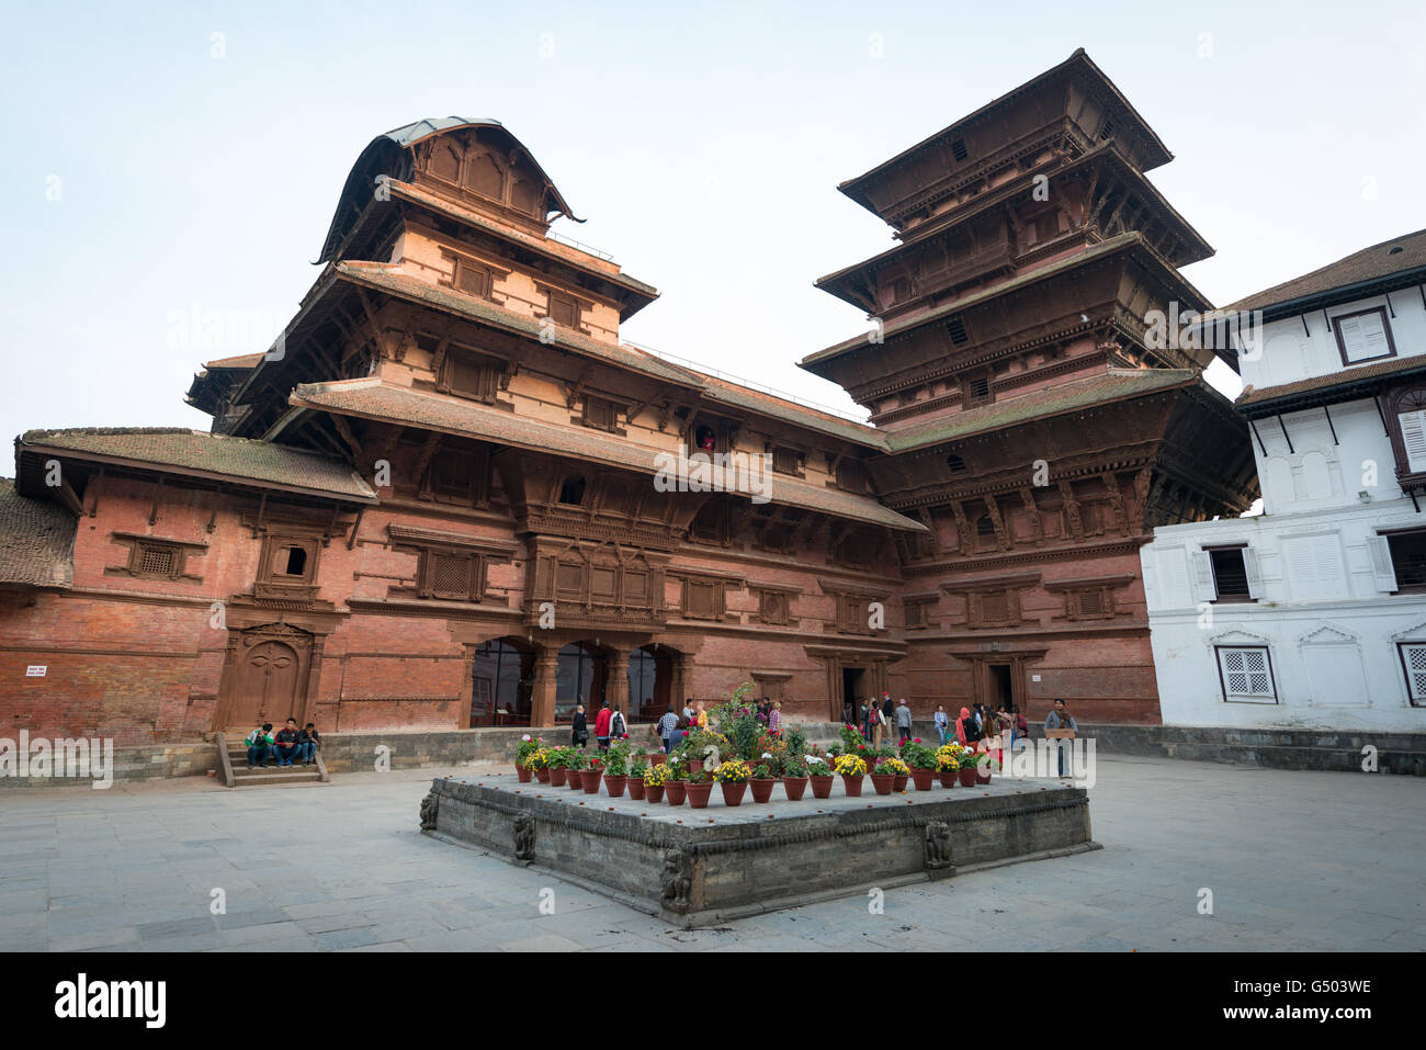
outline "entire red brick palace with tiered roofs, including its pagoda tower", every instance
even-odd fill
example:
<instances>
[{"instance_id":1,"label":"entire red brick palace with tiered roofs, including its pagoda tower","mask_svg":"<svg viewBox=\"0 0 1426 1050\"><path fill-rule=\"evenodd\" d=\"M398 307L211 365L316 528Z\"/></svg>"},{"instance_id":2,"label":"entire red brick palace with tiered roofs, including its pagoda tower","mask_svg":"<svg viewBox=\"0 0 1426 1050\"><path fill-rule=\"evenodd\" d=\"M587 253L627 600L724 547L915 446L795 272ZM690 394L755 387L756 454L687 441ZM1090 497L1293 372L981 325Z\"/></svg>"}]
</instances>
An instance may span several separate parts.
<instances>
[{"instance_id":1,"label":"entire red brick palace with tiered roofs, including its pagoda tower","mask_svg":"<svg viewBox=\"0 0 1426 1050\"><path fill-rule=\"evenodd\" d=\"M801 364L863 425L620 342L657 292L549 235L569 205L496 121L379 136L282 340L194 379L211 432L16 439L0 716L552 725L750 679L816 719L1156 722L1138 546L1256 494L1211 354L1144 337L1208 305L1168 160L1077 51L843 184L898 244L820 281L876 320ZM767 462L767 499L666 491L680 445Z\"/></svg>"}]
</instances>

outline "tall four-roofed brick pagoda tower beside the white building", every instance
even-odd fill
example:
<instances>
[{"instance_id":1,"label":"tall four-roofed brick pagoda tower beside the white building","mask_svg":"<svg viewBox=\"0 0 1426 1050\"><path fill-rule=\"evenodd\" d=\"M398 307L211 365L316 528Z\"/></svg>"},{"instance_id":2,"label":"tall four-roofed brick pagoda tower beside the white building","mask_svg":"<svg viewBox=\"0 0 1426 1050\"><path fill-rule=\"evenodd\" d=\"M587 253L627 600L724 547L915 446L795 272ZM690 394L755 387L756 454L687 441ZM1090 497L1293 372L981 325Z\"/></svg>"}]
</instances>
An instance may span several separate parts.
<instances>
[{"instance_id":1,"label":"tall four-roofed brick pagoda tower beside the white building","mask_svg":"<svg viewBox=\"0 0 1426 1050\"><path fill-rule=\"evenodd\" d=\"M1211 308L1178 267L1212 248L1144 177L1168 160L1078 50L841 184L900 244L817 282L873 330L801 367L871 412L876 491L928 526L898 536L893 690L1158 720L1138 548L1258 491L1202 378L1235 352L1147 338Z\"/></svg>"}]
</instances>

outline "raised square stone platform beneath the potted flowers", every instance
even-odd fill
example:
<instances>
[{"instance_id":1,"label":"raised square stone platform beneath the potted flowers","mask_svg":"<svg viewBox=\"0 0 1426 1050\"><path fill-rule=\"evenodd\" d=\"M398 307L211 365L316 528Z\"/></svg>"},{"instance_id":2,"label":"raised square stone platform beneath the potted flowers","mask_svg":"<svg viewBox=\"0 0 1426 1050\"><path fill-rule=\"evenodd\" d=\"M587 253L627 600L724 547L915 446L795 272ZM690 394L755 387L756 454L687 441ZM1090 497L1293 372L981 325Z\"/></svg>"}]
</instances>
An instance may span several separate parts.
<instances>
[{"instance_id":1,"label":"raised square stone platform beneath the potted flowers","mask_svg":"<svg viewBox=\"0 0 1426 1050\"><path fill-rule=\"evenodd\" d=\"M635 802L519 783L515 773L432 782L428 835L538 865L680 926L837 896L864 896L958 870L1098 849L1089 799L1060 780L723 805Z\"/></svg>"}]
</instances>

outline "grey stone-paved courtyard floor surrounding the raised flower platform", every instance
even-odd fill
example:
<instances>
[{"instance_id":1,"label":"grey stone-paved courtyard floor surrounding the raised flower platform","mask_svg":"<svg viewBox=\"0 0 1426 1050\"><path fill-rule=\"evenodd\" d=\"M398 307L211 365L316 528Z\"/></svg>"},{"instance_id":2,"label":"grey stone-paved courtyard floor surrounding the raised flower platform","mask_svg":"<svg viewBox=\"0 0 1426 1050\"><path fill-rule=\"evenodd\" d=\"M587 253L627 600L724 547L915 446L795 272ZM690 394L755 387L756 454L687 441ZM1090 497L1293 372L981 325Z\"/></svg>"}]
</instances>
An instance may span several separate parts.
<instances>
[{"instance_id":1,"label":"grey stone-paved courtyard floor surrounding the raised flower platform","mask_svg":"<svg viewBox=\"0 0 1426 1050\"><path fill-rule=\"evenodd\" d=\"M0 950L1426 949L1420 779L1101 758L1102 850L676 930L422 836L472 772L0 790Z\"/></svg>"}]
</instances>

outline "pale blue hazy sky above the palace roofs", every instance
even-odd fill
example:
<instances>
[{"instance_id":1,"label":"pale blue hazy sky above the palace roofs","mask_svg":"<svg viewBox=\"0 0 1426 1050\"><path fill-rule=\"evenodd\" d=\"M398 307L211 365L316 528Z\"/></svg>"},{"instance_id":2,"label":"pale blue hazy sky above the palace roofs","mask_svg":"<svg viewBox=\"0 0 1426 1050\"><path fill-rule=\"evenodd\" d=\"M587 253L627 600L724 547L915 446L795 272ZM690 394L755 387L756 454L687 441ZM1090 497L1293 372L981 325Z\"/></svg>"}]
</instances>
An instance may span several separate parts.
<instances>
[{"instance_id":1,"label":"pale blue hazy sky above the palace roofs","mask_svg":"<svg viewBox=\"0 0 1426 1050\"><path fill-rule=\"evenodd\" d=\"M378 134L502 121L662 297L623 337L853 409L813 287L893 245L837 193L1075 47L1175 160L1215 304L1426 227L1426 6L0 3L0 431L193 427L264 350ZM221 334L194 321L218 314ZM1236 392L1226 368L1212 378ZM0 474L9 474L0 465Z\"/></svg>"}]
</instances>

